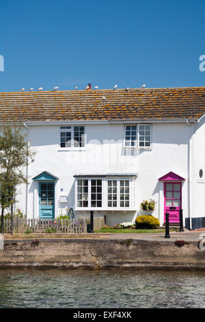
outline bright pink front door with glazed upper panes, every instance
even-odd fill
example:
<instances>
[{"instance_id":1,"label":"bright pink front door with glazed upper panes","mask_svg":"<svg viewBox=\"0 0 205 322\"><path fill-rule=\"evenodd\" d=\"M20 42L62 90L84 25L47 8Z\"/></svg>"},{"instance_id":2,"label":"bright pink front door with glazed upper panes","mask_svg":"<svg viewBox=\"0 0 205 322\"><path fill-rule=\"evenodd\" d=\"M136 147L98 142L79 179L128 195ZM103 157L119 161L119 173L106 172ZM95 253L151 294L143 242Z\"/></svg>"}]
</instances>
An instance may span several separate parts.
<instances>
[{"instance_id":1,"label":"bright pink front door with glazed upper panes","mask_svg":"<svg viewBox=\"0 0 205 322\"><path fill-rule=\"evenodd\" d=\"M169 212L169 223L179 223L179 211L182 209L182 183L165 182L165 213Z\"/></svg>"}]
</instances>

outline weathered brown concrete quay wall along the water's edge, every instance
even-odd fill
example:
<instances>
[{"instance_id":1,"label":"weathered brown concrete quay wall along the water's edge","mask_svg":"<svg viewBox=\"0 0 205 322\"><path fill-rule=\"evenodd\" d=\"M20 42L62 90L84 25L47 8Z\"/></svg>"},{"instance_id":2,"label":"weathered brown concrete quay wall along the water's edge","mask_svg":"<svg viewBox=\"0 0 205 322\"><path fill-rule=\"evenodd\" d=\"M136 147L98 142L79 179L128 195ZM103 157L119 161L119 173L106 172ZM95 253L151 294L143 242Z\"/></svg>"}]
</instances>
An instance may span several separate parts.
<instances>
[{"instance_id":1,"label":"weathered brown concrete quay wall along the water's edge","mask_svg":"<svg viewBox=\"0 0 205 322\"><path fill-rule=\"evenodd\" d=\"M197 241L178 247L174 241L146 240L5 240L3 267L90 267L132 269L205 269Z\"/></svg>"}]
</instances>

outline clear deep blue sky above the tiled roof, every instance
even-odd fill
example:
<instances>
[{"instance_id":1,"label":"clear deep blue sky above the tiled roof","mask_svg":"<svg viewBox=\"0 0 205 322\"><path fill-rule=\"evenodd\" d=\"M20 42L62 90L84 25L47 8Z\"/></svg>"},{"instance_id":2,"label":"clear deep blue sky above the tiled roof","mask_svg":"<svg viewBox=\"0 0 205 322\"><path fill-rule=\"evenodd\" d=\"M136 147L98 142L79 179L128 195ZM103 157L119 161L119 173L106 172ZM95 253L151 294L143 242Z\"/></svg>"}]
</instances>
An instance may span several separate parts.
<instances>
[{"instance_id":1,"label":"clear deep blue sky above the tiled roof","mask_svg":"<svg viewBox=\"0 0 205 322\"><path fill-rule=\"evenodd\" d=\"M0 91L204 86L204 0L0 0Z\"/></svg>"}]
</instances>

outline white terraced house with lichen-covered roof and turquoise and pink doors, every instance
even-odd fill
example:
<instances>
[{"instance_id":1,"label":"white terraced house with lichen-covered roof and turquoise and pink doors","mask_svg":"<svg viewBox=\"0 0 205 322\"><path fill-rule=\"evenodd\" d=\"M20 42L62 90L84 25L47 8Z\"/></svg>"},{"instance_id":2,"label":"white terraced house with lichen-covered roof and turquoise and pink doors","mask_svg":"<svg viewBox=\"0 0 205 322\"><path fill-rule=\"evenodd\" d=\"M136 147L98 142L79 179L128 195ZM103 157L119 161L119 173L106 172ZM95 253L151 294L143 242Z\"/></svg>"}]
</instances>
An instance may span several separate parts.
<instances>
[{"instance_id":1,"label":"white terraced house with lichen-covered roof and turquoise and pink doors","mask_svg":"<svg viewBox=\"0 0 205 322\"><path fill-rule=\"evenodd\" d=\"M152 214L205 226L205 88L1 92L1 122L18 121L37 151L18 205L27 218Z\"/></svg>"}]
</instances>

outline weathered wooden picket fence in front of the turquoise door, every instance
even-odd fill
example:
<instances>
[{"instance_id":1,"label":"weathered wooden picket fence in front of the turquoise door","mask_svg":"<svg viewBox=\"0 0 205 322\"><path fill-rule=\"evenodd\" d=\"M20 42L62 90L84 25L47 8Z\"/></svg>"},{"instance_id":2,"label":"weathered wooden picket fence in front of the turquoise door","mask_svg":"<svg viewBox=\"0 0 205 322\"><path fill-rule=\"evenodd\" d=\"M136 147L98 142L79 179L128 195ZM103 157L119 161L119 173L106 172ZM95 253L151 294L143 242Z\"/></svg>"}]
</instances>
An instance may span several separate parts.
<instances>
[{"instance_id":1,"label":"weathered wooden picket fence in front of the turquoise door","mask_svg":"<svg viewBox=\"0 0 205 322\"><path fill-rule=\"evenodd\" d=\"M3 230L5 234L12 233L11 219L4 219ZM13 232L14 234L87 233L87 221L86 219L13 219Z\"/></svg>"}]
</instances>

